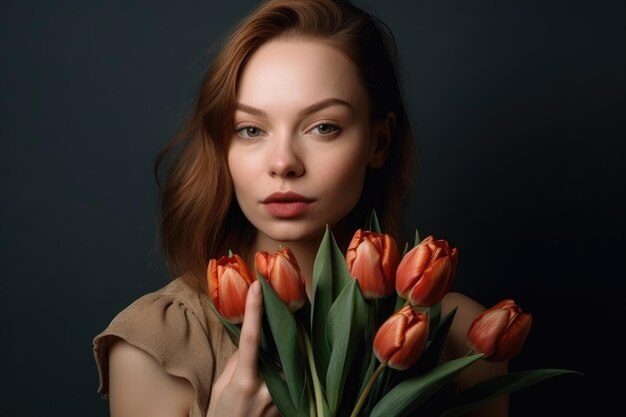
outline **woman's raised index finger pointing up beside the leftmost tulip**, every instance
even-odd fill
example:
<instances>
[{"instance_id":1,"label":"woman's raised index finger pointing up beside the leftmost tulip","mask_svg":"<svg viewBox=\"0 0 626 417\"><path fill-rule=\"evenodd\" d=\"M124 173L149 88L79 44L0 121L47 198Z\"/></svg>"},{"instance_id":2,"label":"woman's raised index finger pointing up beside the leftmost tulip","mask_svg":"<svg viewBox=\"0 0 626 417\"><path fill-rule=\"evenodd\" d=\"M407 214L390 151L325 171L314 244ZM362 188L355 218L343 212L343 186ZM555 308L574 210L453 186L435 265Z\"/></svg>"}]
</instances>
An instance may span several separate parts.
<instances>
[{"instance_id":1,"label":"woman's raised index finger pointing up beside the leftmost tulip","mask_svg":"<svg viewBox=\"0 0 626 417\"><path fill-rule=\"evenodd\" d=\"M255 281L250 285L246 298L246 312L239 336L239 358L235 373L240 378L252 381L258 378L257 359L261 340L261 316L263 314L263 298L261 283Z\"/></svg>"}]
</instances>

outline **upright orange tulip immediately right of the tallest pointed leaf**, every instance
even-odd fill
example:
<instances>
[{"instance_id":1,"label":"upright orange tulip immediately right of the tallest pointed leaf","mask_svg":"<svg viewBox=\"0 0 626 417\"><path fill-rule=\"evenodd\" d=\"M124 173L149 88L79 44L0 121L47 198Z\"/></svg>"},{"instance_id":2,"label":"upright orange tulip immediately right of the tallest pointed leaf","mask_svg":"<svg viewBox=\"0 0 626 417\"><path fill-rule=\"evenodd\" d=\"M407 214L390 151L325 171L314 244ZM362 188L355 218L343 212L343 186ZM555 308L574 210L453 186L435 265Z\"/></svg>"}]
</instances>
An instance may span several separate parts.
<instances>
[{"instance_id":1,"label":"upright orange tulip immediately right of the tallest pointed leaf","mask_svg":"<svg viewBox=\"0 0 626 417\"><path fill-rule=\"evenodd\" d=\"M398 247L391 236L361 229L354 234L346 253L350 275L369 300L393 292L399 261Z\"/></svg>"}]
</instances>

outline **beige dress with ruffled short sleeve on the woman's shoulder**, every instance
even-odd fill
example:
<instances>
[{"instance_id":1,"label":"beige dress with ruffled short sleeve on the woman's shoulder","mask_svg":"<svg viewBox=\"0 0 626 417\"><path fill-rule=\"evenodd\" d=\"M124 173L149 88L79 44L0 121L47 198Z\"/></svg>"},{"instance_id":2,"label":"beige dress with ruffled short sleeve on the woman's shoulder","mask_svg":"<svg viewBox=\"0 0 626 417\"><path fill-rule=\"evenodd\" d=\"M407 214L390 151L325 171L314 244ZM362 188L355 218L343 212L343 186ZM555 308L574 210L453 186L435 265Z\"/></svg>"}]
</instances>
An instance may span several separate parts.
<instances>
[{"instance_id":1,"label":"beige dress with ruffled short sleeve on the woman's shoulder","mask_svg":"<svg viewBox=\"0 0 626 417\"><path fill-rule=\"evenodd\" d=\"M150 354L164 372L189 381L196 392L190 416L205 417L213 382L236 350L208 302L178 278L120 312L93 341L100 395L108 395L109 349L119 338Z\"/></svg>"}]
</instances>

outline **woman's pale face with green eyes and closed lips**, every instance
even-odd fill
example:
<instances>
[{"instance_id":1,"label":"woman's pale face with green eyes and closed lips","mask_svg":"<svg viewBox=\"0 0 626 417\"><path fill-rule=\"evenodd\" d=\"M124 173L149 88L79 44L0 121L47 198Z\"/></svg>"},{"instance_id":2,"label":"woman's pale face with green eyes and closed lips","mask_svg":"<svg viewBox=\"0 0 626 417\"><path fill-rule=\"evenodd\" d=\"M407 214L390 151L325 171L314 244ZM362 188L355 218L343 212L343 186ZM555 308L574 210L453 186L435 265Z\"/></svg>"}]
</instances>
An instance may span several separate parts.
<instances>
[{"instance_id":1,"label":"woman's pale face with green eyes and closed lips","mask_svg":"<svg viewBox=\"0 0 626 417\"><path fill-rule=\"evenodd\" d=\"M236 102L228 165L257 246L319 239L380 157L356 68L327 43L278 38L245 65Z\"/></svg>"}]
</instances>

